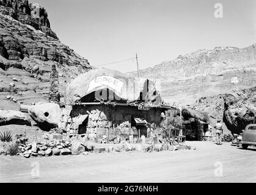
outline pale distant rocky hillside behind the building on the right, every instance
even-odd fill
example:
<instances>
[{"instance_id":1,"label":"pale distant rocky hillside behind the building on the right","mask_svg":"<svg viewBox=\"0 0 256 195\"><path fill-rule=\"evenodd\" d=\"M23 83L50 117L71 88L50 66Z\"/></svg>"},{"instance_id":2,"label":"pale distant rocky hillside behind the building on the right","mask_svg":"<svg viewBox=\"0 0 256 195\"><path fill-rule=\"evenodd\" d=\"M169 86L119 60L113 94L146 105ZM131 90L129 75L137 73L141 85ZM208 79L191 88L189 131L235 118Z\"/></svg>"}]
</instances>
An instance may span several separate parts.
<instances>
[{"instance_id":1,"label":"pale distant rocky hillside behind the building on the right","mask_svg":"<svg viewBox=\"0 0 256 195\"><path fill-rule=\"evenodd\" d=\"M165 101L191 104L200 97L227 93L232 88L256 86L256 44L242 49L199 50L142 69L141 74L161 80L161 96Z\"/></svg>"}]
</instances>

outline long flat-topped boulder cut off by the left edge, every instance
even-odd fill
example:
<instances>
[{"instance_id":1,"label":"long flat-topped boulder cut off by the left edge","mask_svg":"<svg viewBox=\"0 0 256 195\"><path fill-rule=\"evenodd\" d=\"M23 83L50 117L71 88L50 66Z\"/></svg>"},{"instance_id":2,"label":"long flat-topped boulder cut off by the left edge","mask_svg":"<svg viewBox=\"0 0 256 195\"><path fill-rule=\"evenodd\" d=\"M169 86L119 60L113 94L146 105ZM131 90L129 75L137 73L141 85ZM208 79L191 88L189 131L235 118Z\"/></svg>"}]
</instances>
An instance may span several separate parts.
<instances>
[{"instance_id":1,"label":"long flat-topped boulder cut off by the left edge","mask_svg":"<svg viewBox=\"0 0 256 195\"><path fill-rule=\"evenodd\" d=\"M31 122L25 113L15 110L0 110L0 126L20 124L31 126Z\"/></svg>"}]
</instances>

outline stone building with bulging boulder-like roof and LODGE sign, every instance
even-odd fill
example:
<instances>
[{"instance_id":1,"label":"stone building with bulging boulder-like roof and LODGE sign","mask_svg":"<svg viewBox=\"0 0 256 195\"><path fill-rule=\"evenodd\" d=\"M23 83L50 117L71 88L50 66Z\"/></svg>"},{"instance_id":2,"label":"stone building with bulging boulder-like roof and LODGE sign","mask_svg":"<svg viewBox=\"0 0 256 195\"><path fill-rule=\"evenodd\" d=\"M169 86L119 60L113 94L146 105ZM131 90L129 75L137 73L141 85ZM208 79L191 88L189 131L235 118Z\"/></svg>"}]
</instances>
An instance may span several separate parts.
<instances>
[{"instance_id":1,"label":"stone building with bulging boulder-like roof and LODGE sign","mask_svg":"<svg viewBox=\"0 0 256 195\"><path fill-rule=\"evenodd\" d=\"M69 133L104 138L145 135L156 129L163 104L156 83L111 69L94 69L72 80L66 91L65 127Z\"/></svg>"}]
</instances>

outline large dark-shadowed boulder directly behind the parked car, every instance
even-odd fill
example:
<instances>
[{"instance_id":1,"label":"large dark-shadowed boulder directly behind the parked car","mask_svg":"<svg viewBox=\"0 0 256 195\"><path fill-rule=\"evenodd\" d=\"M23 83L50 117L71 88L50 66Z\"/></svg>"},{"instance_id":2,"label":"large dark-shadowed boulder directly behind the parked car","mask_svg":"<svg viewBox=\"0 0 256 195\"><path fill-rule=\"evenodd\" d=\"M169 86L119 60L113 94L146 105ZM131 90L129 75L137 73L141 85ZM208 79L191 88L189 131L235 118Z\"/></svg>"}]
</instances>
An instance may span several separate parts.
<instances>
[{"instance_id":1,"label":"large dark-shadowed boulder directly behind the parked car","mask_svg":"<svg viewBox=\"0 0 256 195\"><path fill-rule=\"evenodd\" d=\"M256 123L256 88L232 90L224 96L224 122L232 132L239 134L247 124Z\"/></svg>"}]
</instances>

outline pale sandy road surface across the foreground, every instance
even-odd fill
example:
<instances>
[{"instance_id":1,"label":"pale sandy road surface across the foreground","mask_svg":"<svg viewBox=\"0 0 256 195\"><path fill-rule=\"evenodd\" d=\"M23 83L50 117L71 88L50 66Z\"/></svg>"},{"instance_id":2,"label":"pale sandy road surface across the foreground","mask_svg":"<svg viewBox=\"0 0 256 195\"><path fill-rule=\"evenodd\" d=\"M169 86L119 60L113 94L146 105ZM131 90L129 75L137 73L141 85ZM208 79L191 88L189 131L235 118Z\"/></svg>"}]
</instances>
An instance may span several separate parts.
<instances>
[{"instance_id":1,"label":"pale sandy road surface across the foreground","mask_svg":"<svg viewBox=\"0 0 256 195\"><path fill-rule=\"evenodd\" d=\"M1 155L0 182L256 182L256 147L187 144L197 149L29 159Z\"/></svg>"}]
</instances>

